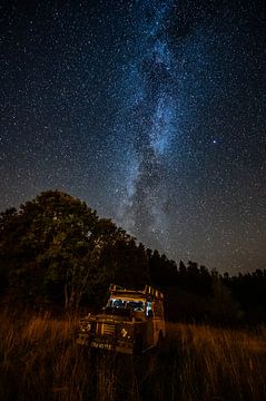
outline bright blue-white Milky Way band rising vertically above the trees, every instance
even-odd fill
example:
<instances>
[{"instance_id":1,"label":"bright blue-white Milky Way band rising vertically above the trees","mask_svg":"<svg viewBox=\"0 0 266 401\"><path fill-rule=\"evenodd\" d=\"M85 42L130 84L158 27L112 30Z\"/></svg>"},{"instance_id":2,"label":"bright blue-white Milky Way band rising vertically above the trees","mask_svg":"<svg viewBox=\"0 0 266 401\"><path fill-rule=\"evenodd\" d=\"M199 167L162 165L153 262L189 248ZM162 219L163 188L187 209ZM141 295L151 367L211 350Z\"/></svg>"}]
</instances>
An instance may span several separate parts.
<instances>
[{"instance_id":1,"label":"bright blue-white Milky Way band rising vertically above the trees","mask_svg":"<svg viewBox=\"0 0 266 401\"><path fill-rule=\"evenodd\" d=\"M165 158L176 121L174 60L161 29L168 10L169 7L158 1L142 2L135 10L136 13L141 11L144 17L135 27L140 33L134 41L137 57L129 79L135 79L135 92L141 96L132 98L126 117L128 130L135 136L131 154L135 175L130 177L121 217L121 223L137 237L149 238L154 246L165 250L168 246L164 211L167 203ZM147 29L145 36L144 27Z\"/></svg>"}]
</instances>

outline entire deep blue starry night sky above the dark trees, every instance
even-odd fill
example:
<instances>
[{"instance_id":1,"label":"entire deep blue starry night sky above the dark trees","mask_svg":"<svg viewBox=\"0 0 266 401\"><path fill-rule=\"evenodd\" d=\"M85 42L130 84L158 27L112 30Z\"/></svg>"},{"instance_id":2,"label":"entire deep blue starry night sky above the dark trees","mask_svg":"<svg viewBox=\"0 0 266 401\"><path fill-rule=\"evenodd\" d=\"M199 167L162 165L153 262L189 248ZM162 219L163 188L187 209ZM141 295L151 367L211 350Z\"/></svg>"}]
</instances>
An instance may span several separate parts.
<instances>
[{"instance_id":1,"label":"entire deep blue starry night sky above the dark trees","mask_svg":"<svg viewBox=\"0 0 266 401\"><path fill-rule=\"evenodd\" d=\"M266 268L265 8L1 2L0 209L58 188L176 261Z\"/></svg>"}]
</instances>

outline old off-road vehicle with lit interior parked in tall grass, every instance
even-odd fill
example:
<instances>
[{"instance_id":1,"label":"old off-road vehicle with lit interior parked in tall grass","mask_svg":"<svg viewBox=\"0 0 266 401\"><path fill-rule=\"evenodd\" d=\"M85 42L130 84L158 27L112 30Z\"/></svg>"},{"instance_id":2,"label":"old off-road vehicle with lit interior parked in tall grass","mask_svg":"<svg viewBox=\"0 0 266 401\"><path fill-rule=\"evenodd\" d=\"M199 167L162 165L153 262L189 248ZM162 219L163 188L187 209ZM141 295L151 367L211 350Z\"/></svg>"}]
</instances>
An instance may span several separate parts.
<instances>
[{"instance_id":1,"label":"old off-road vehicle with lit interior parked in tall grass","mask_svg":"<svg viewBox=\"0 0 266 401\"><path fill-rule=\"evenodd\" d=\"M164 294L146 285L144 291L111 284L102 312L80 320L77 343L122 353L141 353L166 335Z\"/></svg>"}]
</instances>

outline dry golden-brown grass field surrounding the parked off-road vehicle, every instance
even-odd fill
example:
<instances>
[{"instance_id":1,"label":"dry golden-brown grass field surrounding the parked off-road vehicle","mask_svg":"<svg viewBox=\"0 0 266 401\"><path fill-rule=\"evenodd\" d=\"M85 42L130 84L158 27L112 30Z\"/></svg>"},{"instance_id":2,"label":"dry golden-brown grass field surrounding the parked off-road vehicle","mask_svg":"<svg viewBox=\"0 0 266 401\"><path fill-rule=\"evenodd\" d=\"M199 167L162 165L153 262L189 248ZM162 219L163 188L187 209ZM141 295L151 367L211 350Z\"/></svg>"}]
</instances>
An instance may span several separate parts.
<instances>
[{"instance_id":1,"label":"dry golden-brown grass field surrounding the parked off-road vehicle","mask_svg":"<svg viewBox=\"0 0 266 401\"><path fill-rule=\"evenodd\" d=\"M78 320L1 313L0 400L266 400L266 329L167 325L138 358L75 343Z\"/></svg>"}]
</instances>

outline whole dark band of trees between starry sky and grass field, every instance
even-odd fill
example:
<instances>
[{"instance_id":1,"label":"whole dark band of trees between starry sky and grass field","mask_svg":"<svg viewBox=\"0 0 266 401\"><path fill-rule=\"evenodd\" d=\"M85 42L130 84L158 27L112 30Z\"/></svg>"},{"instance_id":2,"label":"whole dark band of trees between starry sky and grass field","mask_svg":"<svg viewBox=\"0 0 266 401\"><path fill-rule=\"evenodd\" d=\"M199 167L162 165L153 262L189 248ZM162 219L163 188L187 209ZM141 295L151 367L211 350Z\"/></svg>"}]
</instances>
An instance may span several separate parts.
<instances>
[{"instance_id":1,"label":"whole dark band of trees between starry sky and grass field","mask_svg":"<svg viewBox=\"0 0 266 401\"><path fill-rule=\"evenodd\" d=\"M266 270L220 275L146 248L85 202L48 190L0 214L0 292L12 303L100 307L110 283L165 292L171 321L266 323Z\"/></svg>"}]
</instances>

